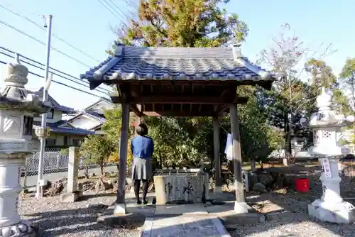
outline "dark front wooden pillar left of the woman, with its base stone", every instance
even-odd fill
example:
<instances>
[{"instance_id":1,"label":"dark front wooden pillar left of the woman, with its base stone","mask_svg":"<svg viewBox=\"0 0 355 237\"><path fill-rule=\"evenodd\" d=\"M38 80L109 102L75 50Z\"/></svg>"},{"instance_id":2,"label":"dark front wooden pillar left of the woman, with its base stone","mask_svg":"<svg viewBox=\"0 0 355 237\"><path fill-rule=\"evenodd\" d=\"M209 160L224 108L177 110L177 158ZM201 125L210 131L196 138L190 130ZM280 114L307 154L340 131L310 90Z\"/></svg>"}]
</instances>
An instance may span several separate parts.
<instances>
[{"instance_id":1,"label":"dark front wooden pillar left of the woman, with its base stone","mask_svg":"<svg viewBox=\"0 0 355 237\"><path fill-rule=\"evenodd\" d=\"M126 166L129 141L129 104L122 105L121 138L119 140L119 183L117 187L116 208L114 214L126 214Z\"/></svg>"}]
</instances>

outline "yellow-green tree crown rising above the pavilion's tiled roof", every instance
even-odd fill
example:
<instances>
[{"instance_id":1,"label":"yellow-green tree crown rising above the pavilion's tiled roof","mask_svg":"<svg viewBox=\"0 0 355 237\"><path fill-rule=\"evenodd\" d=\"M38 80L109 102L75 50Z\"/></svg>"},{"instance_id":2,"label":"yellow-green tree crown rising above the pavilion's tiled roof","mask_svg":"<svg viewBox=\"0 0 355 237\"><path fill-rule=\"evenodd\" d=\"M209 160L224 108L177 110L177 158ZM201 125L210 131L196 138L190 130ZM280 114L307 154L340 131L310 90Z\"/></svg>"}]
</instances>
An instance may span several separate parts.
<instances>
[{"instance_id":1,"label":"yellow-green tree crown rising above the pavilion's tiled roof","mask_svg":"<svg viewBox=\"0 0 355 237\"><path fill-rule=\"evenodd\" d=\"M230 0L141 0L138 20L122 26L119 40L126 45L219 47L242 42L249 28L239 16L218 4Z\"/></svg>"}]
</instances>

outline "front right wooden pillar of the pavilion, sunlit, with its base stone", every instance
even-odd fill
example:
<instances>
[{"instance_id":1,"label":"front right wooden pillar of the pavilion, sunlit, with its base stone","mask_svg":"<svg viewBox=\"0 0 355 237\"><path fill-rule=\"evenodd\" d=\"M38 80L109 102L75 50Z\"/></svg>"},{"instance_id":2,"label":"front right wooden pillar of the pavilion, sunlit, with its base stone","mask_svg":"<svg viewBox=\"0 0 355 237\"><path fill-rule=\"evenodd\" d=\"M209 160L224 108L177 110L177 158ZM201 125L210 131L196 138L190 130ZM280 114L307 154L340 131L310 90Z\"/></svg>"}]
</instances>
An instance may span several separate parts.
<instances>
[{"instance_id":1,"label":"front right wooden pillar of the pavilion, sunlit, with its base stone","mask_svg":"<svg viewBox=\"0 0 355 237\"><path fill-rule=\"evenodd\" d=\"M237 213L246 213L248 208L244 197L244 182L241 169L241 143L239 134L239 120L236 105L229 106L231 113L231 136L233 138L233 167L234 167L234 184L236 188L236 203L234 210Z\"/></svg>"}]
</instances>

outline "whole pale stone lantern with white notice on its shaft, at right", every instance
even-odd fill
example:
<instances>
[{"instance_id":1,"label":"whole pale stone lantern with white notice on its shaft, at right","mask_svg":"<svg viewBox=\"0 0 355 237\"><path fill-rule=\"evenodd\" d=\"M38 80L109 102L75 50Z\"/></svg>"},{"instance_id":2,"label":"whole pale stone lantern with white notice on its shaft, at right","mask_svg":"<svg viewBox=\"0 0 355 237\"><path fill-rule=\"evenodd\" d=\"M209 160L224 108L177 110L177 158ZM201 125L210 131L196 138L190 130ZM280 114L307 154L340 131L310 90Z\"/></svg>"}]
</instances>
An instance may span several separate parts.
<instances>
[{"instance_id":1,"label":"whole pale stone lantern with white notice on its shaft, at right","mask_svg":"<svg viewBox=\"0 0 355 237\"><path fill-rule=\"evenodd\" d=\"M308 205L308 214L322 221L332 223L352 223L355 221L355 207L344 202L340 197L339 158L349 151L339 144L341 129L354 122L354 116L345 117L330 109L332 94L322 88L317 97L317 113L310 118L310 128L314 134L314 147L310 149L312 156L320 159L322 164L323 194L320 199Z\"/></svg>"}]
</instances>

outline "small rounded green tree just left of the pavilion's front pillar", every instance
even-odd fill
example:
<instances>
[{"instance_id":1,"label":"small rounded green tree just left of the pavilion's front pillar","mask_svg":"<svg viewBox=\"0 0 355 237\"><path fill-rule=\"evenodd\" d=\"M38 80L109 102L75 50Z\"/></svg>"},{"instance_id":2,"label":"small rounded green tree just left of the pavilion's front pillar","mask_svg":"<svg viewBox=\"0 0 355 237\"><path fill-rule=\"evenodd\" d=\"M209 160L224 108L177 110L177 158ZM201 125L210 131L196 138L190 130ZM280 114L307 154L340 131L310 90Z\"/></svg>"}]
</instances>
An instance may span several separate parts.
<instances>
[{"instance_id":1,"label":"small rounded green tree just left of the pavilion's front pillar","mask_svg":"<svg viewBox=\"0 0 355 237\"><path fill-rule=\"evenodd\" d=\"M116 144L106 136L92 135L85 138L80 147L80 154L84 157L85 162L99 165L101 174L104 175L104 164L115 149Z\"/></svg>"}]
</instances>

